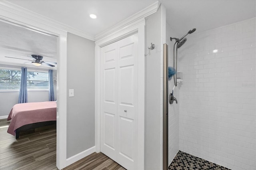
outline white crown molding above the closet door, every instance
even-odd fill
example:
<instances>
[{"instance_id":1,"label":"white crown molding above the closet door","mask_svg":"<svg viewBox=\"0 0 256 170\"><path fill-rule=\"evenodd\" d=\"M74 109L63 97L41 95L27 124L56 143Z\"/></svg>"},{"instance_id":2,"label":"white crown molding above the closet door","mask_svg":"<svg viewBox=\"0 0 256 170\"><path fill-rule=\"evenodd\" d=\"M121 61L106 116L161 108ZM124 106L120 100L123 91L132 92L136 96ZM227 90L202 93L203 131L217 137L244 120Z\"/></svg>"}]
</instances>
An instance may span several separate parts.
<instances>
[{"instance_id":1,"label":"white crown molding above the closet door","mask_svg":"<svg viewBox=\"0 0 256 170\"><path fill-rule=\"evenodd\" d=\"M143 10L140 10L139 12L133 14L132 16L126 18L125 20L123 20L122 22L119 22L118 24L110 27L109 29L107 29L106 31L97 34L95 36L95 40L101 40L103 39L105 36L108 36L114 32L116 32L117 30L124 30L127 29L128 27L130 27L133 22L137 22L138 20L141 20L142 18L145 18L153 13L155 13L159 6L160 6L160 2L156 1L153 4L151 4L150 6L144 8Z\"/></svg>"}]
</instances>

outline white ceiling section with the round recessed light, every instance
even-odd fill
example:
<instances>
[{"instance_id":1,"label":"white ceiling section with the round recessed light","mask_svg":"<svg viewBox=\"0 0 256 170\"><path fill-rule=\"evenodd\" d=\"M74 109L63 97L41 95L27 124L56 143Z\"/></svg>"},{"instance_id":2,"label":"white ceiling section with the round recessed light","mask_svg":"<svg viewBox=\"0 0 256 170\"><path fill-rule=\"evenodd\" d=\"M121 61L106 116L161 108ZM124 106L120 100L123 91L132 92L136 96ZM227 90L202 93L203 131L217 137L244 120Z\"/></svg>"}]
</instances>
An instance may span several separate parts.
<instances>
[{"instance_id":1,"label":"white ceiling section with the round recessed light","mask_svg":"<svg viewBox=\"0 0 256 170\"><path fill-rule=\"evenodd\" d=\"M156 0L8 0L95 36ZM97 19L90 18L96 14Z\"/></svg>"}]
</instances>

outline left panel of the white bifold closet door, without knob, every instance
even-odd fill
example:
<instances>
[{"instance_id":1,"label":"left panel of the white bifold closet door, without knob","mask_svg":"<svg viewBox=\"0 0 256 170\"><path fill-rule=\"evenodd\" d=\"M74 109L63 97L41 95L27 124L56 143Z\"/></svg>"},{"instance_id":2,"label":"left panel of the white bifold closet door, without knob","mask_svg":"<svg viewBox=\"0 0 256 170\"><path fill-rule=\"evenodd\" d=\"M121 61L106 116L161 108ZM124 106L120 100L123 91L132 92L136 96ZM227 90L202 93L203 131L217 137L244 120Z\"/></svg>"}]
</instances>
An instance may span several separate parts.
<instances>
[{"instance_id":1,"label":"left panel of the white bifold closet door, without knob","mask_svg":"<svg viewBox=\"0 0 256 170\"><path fill-rule=\"evenodd\" d=\"M100 149L116 160L117 136L117 88L116 43L101 48L101 125Z\"/></svg>"}]
</instances>

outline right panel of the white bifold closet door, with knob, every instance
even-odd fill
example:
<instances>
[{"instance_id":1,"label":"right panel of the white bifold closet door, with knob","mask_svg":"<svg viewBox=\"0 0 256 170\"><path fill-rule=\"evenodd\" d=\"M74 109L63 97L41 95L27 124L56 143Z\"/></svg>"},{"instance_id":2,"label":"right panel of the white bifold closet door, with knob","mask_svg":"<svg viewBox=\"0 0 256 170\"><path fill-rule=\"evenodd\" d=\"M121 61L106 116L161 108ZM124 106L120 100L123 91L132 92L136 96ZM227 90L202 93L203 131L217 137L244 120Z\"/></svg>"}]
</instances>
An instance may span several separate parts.
<instances>
[{"instance_id":1,"label":"right panel of the white bifold closet door, with knob","mask_svg":"<svg viewBox=\"0 0 256 170\"><path fill-rule=\"evenodd\" d=\"M138 34L118 41L117 162L136 169L138 148Z\"/></svg>"}]
</instances>

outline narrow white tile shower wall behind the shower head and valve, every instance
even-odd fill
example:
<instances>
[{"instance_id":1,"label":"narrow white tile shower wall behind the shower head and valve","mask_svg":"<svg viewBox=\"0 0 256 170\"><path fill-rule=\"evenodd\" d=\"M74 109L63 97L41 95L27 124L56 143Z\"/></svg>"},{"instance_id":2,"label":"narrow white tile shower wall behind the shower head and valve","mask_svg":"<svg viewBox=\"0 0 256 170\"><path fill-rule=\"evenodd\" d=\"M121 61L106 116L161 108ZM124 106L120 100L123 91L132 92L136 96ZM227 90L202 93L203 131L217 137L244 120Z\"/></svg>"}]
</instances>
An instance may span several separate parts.
<instances>
[{"instance_id":1,"label":"narrow white tile shower wall behind the shower head and valve","mask_svg":"<svg viewBox=\"0 0 256 170\"><path fill-rule=\"evenodd\" d=\"M167 23L166 43L168 44L168 66L173 67L173 45L175 40L170 41L170 37L179 38L180 36L178 36ZM168 81L168 95L172 93L174 87L173 79L174 77ZM175 102L172 105L168 104L168 165L179 151L179 87L180 84L174 89L174 97L178 100L178 104Z\"/></svg>"}]
</instances>

